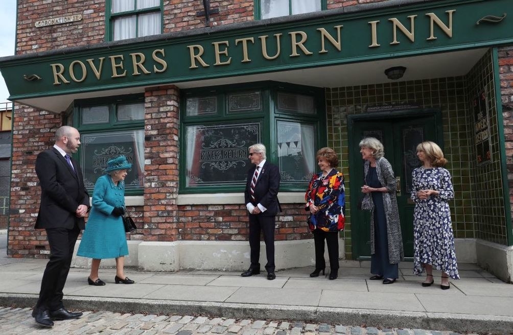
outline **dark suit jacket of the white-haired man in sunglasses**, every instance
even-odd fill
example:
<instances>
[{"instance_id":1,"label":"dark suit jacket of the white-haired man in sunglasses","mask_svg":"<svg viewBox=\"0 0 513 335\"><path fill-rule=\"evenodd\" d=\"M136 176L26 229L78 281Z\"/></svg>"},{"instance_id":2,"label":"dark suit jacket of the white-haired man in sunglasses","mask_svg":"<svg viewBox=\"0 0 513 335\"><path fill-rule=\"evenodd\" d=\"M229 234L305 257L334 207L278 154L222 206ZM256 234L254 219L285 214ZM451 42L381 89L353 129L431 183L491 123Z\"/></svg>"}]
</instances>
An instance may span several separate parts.
<instances>
[{"instance_id":1,"label":"dark suit jacket of the white-haired man in sunglasses","mask_svg":"<svg viewBox=\"0 0 513 335\"><path fill-rule=\"evenodd\" d=\"M246 189L244 190L244 200L246 204L251 203L251 196L249 189L251 187L251 180L257 166L252 167L248 171ZM278 202L278 190L280 189L280 170L278 166L265 162L262 171L259 173L257 183L255 184L255 202L253 205L261 204L267 210L259 215L271 216L276 215L281 211L280 203Z\"/></svg>"}]
</instances>

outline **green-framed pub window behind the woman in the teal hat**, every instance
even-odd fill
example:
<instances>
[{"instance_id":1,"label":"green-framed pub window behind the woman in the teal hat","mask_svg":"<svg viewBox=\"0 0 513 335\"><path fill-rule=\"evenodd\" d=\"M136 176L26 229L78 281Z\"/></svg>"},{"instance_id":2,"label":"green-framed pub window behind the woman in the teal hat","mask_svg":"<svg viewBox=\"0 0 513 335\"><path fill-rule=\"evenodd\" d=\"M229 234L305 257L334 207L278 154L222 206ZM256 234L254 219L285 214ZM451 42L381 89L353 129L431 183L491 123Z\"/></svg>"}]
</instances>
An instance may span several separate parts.
<instances>
[{"instance_id":1,"label":"green-framed pub window behind the woman in the teal hat","mask_svg":"<svg viewBox=\"0 0 513 335\"><path fill-rule=\"evenodd\" d=\"M144 97L128 95L76 101L69 117L81 134L77 158L90 194L98 177L104 174L107 161L119 155L126 156L132 164L125 179L126 194L142 194Z\"/></svg>"}]
</instances>

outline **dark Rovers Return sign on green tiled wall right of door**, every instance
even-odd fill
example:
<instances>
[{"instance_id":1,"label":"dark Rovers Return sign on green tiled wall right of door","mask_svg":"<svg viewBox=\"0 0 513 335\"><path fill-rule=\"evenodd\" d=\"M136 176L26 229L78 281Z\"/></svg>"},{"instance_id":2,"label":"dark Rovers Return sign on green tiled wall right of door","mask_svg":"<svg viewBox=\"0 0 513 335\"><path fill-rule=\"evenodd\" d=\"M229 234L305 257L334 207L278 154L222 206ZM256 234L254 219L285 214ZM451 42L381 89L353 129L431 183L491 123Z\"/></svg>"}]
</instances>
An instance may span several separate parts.
<instances>
[{"instance_id":1,"label":"dark Rovers Return sign on green tiled wall right of door","mask_svg":"<svg viewBox=\"0 0 513 335\"><path fill-rule=\"evenodd\" d=\"M478 165L491 161L490 124L488 122L488 104L485 90L472 99L474 114L474 142Z\"/></svg>"}]
</instances>

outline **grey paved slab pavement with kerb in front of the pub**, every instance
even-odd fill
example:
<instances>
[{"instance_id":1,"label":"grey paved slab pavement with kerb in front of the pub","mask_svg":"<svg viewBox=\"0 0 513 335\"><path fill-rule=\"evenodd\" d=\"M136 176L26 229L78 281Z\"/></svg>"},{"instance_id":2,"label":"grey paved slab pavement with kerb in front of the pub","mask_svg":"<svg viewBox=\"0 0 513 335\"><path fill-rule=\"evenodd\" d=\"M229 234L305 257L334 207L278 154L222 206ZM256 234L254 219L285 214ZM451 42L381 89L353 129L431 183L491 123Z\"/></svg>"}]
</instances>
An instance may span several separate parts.
<instances>
[{"instance_id":1,"label":"grey paved slab pavement with kerb in front of the pub","mask_svg":"<svg viewBox=\"0 0 513 335\"><path fill-rule=\"evenodd\" d=\"M12 259L0 249L0 304L32 307L47 260ZM142 272L127 269L133 285L114 284L114 269L101 269L107 285L87 284L88 269L71 269L65 304L74 310L204 315L233 319L295 320L368 327L513 333L513 285L475 264L459 264L461 280L449 290L422 287L400 265L391 285L370 281L369 262L340 261L339 278L309 278L312 267L242 278L240 272Z\"/></svg>"}]
</instances>

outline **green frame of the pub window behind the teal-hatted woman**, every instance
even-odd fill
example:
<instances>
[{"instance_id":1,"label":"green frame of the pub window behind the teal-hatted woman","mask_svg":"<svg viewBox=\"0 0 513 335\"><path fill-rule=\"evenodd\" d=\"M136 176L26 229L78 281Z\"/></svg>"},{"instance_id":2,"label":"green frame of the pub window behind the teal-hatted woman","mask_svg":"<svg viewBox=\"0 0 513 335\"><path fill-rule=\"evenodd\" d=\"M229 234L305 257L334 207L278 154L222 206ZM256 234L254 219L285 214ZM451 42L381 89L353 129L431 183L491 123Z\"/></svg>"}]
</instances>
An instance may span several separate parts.
<instances>
[{"instance_id":1,"label":"green frame of the pub window behind the teal-hatted woman","mask_svg":"<svg viewBox=\"0 0 513 335\"><path fill-rule=\"evenodd\" d=\"M116 95L116 96L107 96L107 97L97 97L97 98L88 98L88 99L80 99L75 100L71 108L68 109L66 120L67 122L63 124L67 124L75 127L78 132L81 134L81 138L83 135L89 135L94 133L104 133L104 132L117 132L117 131L130 131L130 130L143 130L144 131L144 117L142 120L132 120L132 121L117 121L117 105L124 105L130 103L143 103L145 102L144 94L128 94L128 95ZM91 124L91 125L82 125L82 113L81 109L83 107L92 107L92 106L108 106L109 108L109 122L104 124ZM143 105L144 108L144 105ZM144 114L143 114L144 115ZM77 160L78 164L82 167L82 150L83 146L78 147L78 151L74 154L75 160ZM143 157L144 159L144 157ZM91 189L88 188L88 191ZM140 189L126 189L125 195L143 195L144 194L144 186L141 186ZM92 196L92 192L90 194Z\"/></svg>"}]
</instances>

